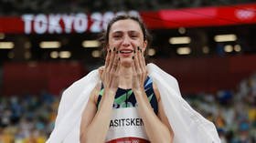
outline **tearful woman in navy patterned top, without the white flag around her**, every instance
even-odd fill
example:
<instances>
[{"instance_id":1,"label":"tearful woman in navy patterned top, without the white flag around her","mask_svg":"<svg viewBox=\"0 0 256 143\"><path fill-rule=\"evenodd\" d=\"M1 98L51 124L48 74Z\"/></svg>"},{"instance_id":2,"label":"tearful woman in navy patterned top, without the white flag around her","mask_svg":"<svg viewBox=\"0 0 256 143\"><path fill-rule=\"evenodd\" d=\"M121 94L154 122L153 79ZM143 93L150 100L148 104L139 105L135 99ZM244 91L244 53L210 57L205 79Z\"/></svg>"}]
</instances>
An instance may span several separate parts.
<instances>
[{"instance_id":1,"label":"tearful woman in navy patterned top, without the white flag around her","mask_svg":"<svg viewBox=\"0 0 256 143\"><path fill-rule=\"evenodd\" d=\"M101 84L99 84L95 87L94 92L92 92L89 103L83 111L80 126L80 142L86 143L93 140L95 143L100 143L104 142L106 138L107 141L116 139L133 142L133 140L138 141L140 138L144 138L144 141L148 140L155 143L172 142L174 133L165 116L159 92L152 83L150 86L144 86L146 79L152 80L149 77L147 78L144 60L148 36L143 23L138 18L129 15L117 16L110 22L104 36L106 36L103 38L106 40L105 49L108 52L105 66L101 68L103 86L103 94L100 96L101 104L97 107L99 104L98 100L100 100L99 93L102 90ZM129 89L132 89L130 91L133 93L123 101L126 104L114 102L116 98L125 93L123 90L129 92ZM146 90L152 90L153 92L146 93ZM148 97L151 94L153 97L149 101ZM112 127L110 126L111 121L113 121L111 120L112 114L116 114L115 112L118 112L116 110L122 110L123 107L127 107L127 103L130 105L129 109L131 110L126 108L123 110L123 114L131 114L133 110L135 112L137 110L138 117L142 118L143 125L130 125L131 121L127 118L125 118L123 124L129 125L126 127L127 129L131 126L141 128L140 130L146 136L125 133L125 127L124 129L113 127L112 131L109 131L109 128ZM116 108L112 109L112 107ZM125 111L130 113L125 113ZM131 130L134 130L134 128L131 128ZM110 132L109 134L108 131ZM123 134L117 138L115 137L117 132L123 132ZM132 138L133 136L140 138Z\"/></svg>"}]
</instances>

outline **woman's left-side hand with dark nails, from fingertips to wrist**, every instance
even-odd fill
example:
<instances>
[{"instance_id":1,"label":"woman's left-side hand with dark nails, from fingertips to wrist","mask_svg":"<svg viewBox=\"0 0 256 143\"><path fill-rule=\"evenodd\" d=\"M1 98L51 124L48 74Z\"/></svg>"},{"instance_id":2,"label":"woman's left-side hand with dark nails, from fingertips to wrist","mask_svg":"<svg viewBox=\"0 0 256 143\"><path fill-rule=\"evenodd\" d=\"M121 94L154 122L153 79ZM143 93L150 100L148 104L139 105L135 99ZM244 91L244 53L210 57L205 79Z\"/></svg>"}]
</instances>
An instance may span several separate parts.
<instances>
[{"instance_id":1,"label":"woman's left-side hand with dark nails, from fingertips to wrist","mask_svg":"<svg viewBox=\"0 0 256 143\"><path fill-rule=\"evenodd\" d=\"M120 66L121 64L117 49L115 47L109 49L106 56L105 66L100 68L101 81L105 91L116 92L119 85Z\"/></svg>"}]
</instances>

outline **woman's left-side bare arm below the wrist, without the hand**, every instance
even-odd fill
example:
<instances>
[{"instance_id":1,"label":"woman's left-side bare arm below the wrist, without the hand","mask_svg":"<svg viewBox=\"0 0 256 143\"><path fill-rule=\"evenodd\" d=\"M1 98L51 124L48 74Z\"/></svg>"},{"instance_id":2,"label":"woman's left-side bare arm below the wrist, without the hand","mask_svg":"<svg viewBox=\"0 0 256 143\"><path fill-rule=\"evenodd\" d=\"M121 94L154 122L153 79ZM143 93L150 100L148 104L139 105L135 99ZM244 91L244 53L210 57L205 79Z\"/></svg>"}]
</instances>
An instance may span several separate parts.
<instances>
[{"instance_id":1,"label":"woman's left-side bare arm below the wrist, without the hand","mask_svg":"<svg viewBox=\"0 0 256 143\"><path fill-rule=\"evenodd\" d=\"M97 88L92 92L89 102L82 113L80 125L81 143L88 143L92 140L95 143L104 142L110 126L114 94L113 92L104 92L101 99L101 106L97 111L97 100L95 97L99 94L99 87Z\"/></svg>"}]
</instances>

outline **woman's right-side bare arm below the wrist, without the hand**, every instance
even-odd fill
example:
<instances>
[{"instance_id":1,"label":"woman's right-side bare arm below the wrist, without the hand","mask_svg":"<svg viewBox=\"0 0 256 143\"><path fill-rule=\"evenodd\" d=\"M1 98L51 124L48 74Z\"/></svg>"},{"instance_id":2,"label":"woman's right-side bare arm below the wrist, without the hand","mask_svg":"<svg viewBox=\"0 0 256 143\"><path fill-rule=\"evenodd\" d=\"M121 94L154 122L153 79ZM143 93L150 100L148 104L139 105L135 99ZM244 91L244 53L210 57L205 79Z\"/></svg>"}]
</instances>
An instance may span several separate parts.
<instances>
[{"instance_id":1,"label":"woman's right-side bare arm below the wrist, without the hand","mask_svg":"<svg viewBox=\"0 0 256 143\"><path fill-rule=\"evenodd\" d=\"M165 116L163 104L157 88L154 88L155 96L158 100L158 115L155 115L145 92L135 91L135 97L138 102L138 111L144 121L145 132L153 143L172 143L174 132Z\"/></svg>"}]
</instances>

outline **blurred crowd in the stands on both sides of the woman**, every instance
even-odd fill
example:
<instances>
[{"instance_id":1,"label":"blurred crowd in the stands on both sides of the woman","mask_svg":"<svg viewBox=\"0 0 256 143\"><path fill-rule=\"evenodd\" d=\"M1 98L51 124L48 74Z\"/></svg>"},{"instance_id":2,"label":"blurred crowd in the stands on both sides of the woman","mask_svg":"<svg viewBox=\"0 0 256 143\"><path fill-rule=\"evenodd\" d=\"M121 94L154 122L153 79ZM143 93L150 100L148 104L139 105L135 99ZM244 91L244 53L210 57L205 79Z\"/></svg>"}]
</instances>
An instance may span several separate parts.
<instances>
[{"instance_id":1,"label":"blurred crowd in the stands on both sides of the woman","mask_svg":"<svg viewBox=\"0 0 256 143\"><path fill-rule=\"evenodd\" d=\"M222 143L256 143L256 75L234 90L185 96L187 102L212 121ZM44 143L54 127L59 96L0 97L0 143Z\"/></svg>"}]
</instances>

